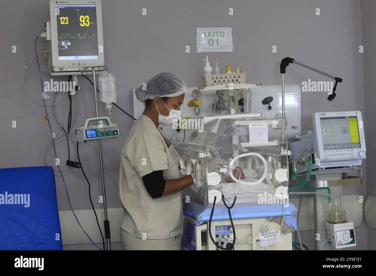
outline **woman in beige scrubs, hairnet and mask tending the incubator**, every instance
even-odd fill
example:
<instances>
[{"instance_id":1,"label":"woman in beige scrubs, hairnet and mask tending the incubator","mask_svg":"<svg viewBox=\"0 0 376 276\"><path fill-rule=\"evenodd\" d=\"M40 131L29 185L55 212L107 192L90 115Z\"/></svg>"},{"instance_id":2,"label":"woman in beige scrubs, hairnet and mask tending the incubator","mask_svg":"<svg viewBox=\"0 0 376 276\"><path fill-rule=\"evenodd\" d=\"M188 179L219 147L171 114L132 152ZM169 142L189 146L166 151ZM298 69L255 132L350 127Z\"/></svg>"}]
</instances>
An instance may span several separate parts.
<instances>
[{"instance_id":1,"label":"woman in beige scrubs, hairnet and mask tending the incubator","mask_svg":"<svg viewBox=\"0 0 376 276\"><path fill-rule=\"evenodd\" d=\"M180 177L179 154L159 125L180 116L186 85L160 73L136 89L145 110L134 122L121 152L120 237L126 250L179 250L183 234L181 191L193 176Z\"/></svg>"}]
</instances>

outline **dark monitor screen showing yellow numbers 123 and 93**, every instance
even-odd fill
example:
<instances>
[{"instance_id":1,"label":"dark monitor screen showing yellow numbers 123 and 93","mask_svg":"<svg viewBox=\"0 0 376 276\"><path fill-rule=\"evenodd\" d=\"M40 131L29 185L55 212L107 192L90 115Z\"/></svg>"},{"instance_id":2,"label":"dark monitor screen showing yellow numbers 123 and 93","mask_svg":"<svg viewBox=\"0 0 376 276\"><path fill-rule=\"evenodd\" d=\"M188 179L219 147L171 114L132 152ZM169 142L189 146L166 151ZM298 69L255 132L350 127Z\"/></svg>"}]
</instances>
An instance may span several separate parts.
<instances>
[{"instance_id":1,"label":"dark monitor screen showing yellow numbers 123 and 93","mask_svg":"<svg viewBox=\"0 0 376 276\"><path fill-rule=\"evenodd\" d=\"M59 60L98 59L96 5L56 5Z\"/></svg>"}]
</instances>

